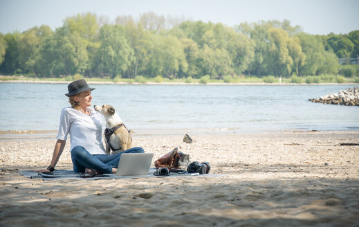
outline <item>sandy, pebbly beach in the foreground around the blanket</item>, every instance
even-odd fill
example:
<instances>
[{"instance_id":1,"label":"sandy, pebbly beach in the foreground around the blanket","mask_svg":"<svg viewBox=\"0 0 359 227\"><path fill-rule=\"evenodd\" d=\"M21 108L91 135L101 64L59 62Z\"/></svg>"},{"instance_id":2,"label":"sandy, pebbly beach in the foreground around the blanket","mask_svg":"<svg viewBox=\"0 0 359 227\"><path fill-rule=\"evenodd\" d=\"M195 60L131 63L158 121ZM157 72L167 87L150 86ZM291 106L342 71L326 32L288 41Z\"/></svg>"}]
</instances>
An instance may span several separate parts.
<instances>
[{"instance_id":1,"label":"sandy, pebbly beach in the foreground around the blanket","mask_svg":"<svg viewBox=\"0 0 359 227\"><path fill-rule=\"evenodd\" d=\"M221 177L27 179L54 139L0 140L0 226L358 226L359 131L133 135L158 158L178 147ZM71 169L68 144L57 168Z\"/></svg>"}]
</instances>

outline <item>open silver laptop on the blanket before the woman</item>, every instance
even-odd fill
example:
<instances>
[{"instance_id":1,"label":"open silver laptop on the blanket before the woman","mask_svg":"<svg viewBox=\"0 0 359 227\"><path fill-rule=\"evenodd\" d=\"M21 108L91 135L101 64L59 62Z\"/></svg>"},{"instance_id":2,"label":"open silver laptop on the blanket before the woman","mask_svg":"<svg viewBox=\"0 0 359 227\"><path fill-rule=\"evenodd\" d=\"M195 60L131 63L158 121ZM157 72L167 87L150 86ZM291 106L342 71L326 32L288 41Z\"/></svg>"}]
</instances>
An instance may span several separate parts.
<instances>
[{"instance_id":1,"label":"open silver laptop on the blanket before the woman","mask_svg":"<svg viewBox=\"0 0 359 227\"><path fill-rule=\"evenodd\" d=\"M143 176L148 175L153 153L121 154L116 175Z\"/></svg>"}]
</instances>

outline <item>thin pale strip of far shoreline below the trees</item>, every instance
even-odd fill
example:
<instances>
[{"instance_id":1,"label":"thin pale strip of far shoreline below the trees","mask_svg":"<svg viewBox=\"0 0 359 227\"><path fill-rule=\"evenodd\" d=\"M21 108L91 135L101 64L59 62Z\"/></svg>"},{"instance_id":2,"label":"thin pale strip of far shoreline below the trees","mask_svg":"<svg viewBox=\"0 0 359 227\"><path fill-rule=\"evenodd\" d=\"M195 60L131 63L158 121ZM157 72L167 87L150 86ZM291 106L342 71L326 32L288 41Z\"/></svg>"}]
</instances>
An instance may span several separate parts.
<instances>
[{"instance_id":1,"label":"thin pale strip of far shoreline below the trees","mask_svg":"<svg viewBox=\"0 0 359 227\"><path fill-rule=\"evenodd\" d=\"M0 84L19 83L19 84L69 84L71 81L52 81L52 80L0 80ZM101 82L101 81L87 81L88 84L114 84L114 85L223 85L223 86L321 86L321 85L359 85L358 83L266 83L266 82L239 82L239 83L225 83L225 82L208 82L201 84L199 82Z\"/></svg>"}]
</instances>

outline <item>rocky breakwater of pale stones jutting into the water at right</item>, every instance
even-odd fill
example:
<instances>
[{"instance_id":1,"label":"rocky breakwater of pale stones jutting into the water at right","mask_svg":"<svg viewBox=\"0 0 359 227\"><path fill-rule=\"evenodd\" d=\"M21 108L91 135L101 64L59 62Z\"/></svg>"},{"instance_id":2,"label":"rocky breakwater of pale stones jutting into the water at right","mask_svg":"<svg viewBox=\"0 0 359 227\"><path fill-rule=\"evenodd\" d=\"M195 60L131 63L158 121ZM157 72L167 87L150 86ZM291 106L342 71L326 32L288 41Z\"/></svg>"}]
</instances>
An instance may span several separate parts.
<instances>
[{"instance_id":1,"label":"rocky breakwater of pale stones jutting into the water at right","mask_svg":"<svg viewBox=\"0 0 359 227\"><path fill-rule=\"evenodd\" d=\"M328 94L320 98L311 98L311 102L320 102L324 104L335 104L345 106L359 106L359 87L353 89L340 90L339 93Z\"/></svg>"}]
</instances>

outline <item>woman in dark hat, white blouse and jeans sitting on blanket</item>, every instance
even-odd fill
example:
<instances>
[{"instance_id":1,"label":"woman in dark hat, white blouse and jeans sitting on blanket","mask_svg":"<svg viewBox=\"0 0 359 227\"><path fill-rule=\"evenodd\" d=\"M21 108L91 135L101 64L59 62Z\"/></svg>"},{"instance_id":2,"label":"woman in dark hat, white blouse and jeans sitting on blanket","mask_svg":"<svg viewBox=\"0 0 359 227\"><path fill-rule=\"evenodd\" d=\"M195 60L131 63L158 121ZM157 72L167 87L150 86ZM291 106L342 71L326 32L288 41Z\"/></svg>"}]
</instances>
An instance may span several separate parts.
<instances>
[{"instance_id":1,"label":"woman in dark hat, white blouse and jeans sitting on blanket","mask_svg":"<svg viewBox=\"0 0 359 227\"><path fill-rule=\"evenodd\" d=\"M116 173L121 154L144 153L141 147L133 147L119 154L107 155L102 144L102 116L91 107L91 91L84 79L68 84L68 93L72 107L62 109L59 121L57 142L53 159L44 170L36 172L53 172L59 156L64 150L67 135L71 139L71 160L75 172Z\"/></svg>"}]
</instances>

